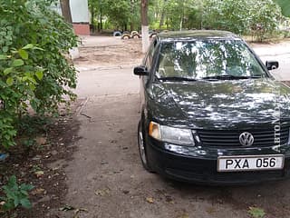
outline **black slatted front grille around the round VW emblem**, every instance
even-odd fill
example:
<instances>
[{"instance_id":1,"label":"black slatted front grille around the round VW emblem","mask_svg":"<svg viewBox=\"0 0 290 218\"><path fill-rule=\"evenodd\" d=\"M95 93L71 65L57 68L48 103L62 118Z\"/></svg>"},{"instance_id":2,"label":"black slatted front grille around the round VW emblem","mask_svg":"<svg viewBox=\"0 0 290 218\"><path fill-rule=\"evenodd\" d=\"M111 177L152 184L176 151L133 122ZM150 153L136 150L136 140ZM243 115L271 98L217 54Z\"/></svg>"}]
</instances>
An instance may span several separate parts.
<instances>
[{"instance_id":1,"label":"black slatted front grille around the round VW emblem","mask_svg":"<svg viewBox=\"0 0 290 218\"><path fill-rule=\"evenodd\" d=\"M213 147L238 147L242 146L239 143L239 135L248 132L253 134L255 141L252 146L266 147L275 145L275 134L279 137L280 144L287 144L289 138L289 127L282 127L280 132L275 132L274 129L267 130L198 130L198 136L201 144L204 146Z\"/></svg>"}]
</instances>

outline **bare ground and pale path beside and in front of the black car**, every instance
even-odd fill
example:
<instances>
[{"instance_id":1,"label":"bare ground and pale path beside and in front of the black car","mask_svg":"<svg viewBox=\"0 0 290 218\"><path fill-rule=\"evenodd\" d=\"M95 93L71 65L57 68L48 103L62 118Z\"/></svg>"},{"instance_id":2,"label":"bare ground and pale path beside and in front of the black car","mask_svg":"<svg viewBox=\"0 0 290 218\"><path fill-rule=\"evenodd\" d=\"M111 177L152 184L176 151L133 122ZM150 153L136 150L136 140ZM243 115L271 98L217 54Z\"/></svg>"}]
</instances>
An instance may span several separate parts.
<instances>
[{"instance_id":1,"label":"bare ground and pale path beside and in front of the black car","mask_svg":"<svg viewBox=\"0 0 290 218\"><path fill-rule=\"evenodd\" d=\"M6 166L20 182L35 186L34 208L16 211L17 217L244 218L252 217L250 207L263 209L266 218L290 217L290 181L208 187L147 173L136 137L139 78L131 67L143 57L140 40L87 37L83 42L75 64L86 70L78 75L73 113L47 127L43 149L11 154L0 163L1 173ZM263 46L267 55L271 46ZM43 174L37 176L39 171ZM0 184L4 181L0 175Z\"/></svg>"}]
</instances>

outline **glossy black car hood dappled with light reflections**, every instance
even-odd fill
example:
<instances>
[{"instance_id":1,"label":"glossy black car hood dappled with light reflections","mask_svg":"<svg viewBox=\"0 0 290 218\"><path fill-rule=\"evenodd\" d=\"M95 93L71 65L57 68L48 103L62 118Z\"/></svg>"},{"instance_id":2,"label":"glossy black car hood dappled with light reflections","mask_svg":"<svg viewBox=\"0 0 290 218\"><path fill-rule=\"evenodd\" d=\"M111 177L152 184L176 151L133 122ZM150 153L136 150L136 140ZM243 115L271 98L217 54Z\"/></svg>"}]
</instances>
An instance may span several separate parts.
<instances>
[{"instance_id":1,"label":"glossy black car hood dappled with light reflections","mask_svg":"<svg viewBox=\"0 0 290 218\"><path fill-rule=\"evenodd\" d=\"M290 124L290 88L272 79L156 83L149 99L152 116L161 123L192 128Z\"/></svg>"}]
</instances>

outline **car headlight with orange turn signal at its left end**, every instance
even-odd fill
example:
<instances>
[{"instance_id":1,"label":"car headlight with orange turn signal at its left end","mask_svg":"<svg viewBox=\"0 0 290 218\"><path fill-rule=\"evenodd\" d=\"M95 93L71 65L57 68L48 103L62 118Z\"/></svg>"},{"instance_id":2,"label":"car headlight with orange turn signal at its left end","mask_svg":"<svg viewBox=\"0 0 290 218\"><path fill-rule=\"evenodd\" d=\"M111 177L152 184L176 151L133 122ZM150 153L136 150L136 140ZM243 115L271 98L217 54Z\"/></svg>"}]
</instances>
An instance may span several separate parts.
<instances>
[{"instance_id":1,"label":"car headlight with orange turn signal at its left end","mask_svg":"<svg viewBox=\"0 0 290 218\"><path fill-rule=\"evenodd\" d=\"M189 129L174 128L150 122L149 134L157 140L171 144L195 145L192 132Z\"/></svg>"}]
</instances>

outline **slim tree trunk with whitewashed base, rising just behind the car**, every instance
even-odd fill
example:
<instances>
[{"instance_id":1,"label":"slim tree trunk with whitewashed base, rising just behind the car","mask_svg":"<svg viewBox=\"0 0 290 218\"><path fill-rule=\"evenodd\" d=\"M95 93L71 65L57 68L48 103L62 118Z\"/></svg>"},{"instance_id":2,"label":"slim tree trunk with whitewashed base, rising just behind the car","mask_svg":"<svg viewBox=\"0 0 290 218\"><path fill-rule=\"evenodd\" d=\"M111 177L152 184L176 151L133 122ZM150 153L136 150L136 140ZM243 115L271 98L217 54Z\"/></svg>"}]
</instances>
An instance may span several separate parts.
<instances>
[{"instance_id":1,"label":"slim tree trunk with whitewashed base, rising just behind the car","mask_svg":"<svg viewBox=\"0 0 290 218\"><path fill-rule=\"evenodd\" d=\"M149 47L148 0L141 0L142 52Z\"/></svg>"}]
</instances>

